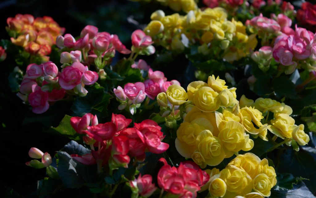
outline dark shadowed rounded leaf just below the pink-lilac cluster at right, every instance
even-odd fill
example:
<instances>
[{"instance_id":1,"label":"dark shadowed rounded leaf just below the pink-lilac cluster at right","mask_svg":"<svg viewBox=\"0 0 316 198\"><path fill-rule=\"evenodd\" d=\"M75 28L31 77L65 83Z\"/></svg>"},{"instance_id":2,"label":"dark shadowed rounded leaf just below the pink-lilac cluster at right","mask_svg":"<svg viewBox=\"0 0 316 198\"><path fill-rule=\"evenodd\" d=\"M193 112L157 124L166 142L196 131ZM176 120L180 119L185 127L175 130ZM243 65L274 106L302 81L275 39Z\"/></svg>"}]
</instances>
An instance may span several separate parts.
<instances>
[{"instance_id":1,"label":"dark shadowed rounded leaf just below the pink-lilac cluster at right","mask_svg":"<svg viewBox=\"0 0 316 198\"><path fill-rule=\"evenodd\" d=\"M278 98L296 98L296 91L293 82L285 77L279 76L272 80L271 83L272 89L276 93L276 97Z\"/></svg>"}]
</instances>

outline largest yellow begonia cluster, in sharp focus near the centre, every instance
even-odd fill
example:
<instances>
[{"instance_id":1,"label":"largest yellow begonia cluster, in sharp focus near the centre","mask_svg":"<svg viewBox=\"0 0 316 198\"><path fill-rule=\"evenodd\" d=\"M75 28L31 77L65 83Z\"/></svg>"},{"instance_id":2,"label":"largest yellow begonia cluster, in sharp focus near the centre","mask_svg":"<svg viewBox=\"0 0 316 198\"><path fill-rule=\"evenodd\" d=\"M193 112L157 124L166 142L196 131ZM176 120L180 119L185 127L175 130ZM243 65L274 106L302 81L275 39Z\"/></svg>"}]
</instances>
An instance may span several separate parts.
<instances>
[{"instance_id":1,"label":"largest yellow begonia cluster, in sharp focus near the centre","mask_svg":"<svg viewBox=\"0 0 316 198\"><path fill-rule=\"evenodd\" d=\"M175 146L183 157L192 158L202 168L218 165L240 150L251 150L253 141L247 133L267 140L267 124L261 123L262 113L252 107L240 109L236 88L225 84L212 75L207 83L191 82L187 92L179 85L171 85L166 93L157 96L162 107L167 107L168 102L185 106Z\"/></svg>"}]
</instances>

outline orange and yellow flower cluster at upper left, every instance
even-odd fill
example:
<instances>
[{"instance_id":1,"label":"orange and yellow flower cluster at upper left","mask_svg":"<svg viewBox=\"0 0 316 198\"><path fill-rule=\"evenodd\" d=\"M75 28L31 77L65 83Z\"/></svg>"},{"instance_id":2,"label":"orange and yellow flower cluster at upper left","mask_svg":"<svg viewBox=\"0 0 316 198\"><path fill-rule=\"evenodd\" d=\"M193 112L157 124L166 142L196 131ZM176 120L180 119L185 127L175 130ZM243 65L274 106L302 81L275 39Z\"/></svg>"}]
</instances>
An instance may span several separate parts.
<instances>
[{"instance_id":1,"label":"orange and yellow flower cluster at upper left","mask_svg":"<svg viewBox=\"0 0 316 198\"><path fill-rule=\"evenodd\" d=\"M6 27L14 45L24 47L25 51L32 55L43 57L51 53L51 46L56 38L63 34L65 28L59 27L58 23L49 16L37 17L32 15L17 14L7 19ZM44 61L45 62L45 61Z\"/></svg>"}]
</instances>

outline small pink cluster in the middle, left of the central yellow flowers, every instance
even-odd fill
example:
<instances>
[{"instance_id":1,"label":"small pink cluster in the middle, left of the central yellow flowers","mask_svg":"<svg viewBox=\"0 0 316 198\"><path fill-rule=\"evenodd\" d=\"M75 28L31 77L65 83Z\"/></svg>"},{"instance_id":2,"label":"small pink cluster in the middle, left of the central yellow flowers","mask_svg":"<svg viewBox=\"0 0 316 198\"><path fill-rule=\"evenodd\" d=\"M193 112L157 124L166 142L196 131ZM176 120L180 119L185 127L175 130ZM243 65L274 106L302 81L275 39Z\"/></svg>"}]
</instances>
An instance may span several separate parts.
<instances>
[{"instance_id":1,"label":"small pink cluster in the middle, left of the central yellow flowers","mask_svg":"<svg viewBox=\"0 0 316 198\"><path fill-rule=\"evenodd\" d=\"M167 81L163 72L153 71L142 59L131 67L148 71L148 79L144 82L127 83L124 88L118 86L114 88L113 92L120 102L119 110L126 108L132 115L136 113L136 108L140 106L146 96L149 99L155 99L158 93L166 92L170 85L180 85L177 80Z\"/></svg>"}]
</instances>

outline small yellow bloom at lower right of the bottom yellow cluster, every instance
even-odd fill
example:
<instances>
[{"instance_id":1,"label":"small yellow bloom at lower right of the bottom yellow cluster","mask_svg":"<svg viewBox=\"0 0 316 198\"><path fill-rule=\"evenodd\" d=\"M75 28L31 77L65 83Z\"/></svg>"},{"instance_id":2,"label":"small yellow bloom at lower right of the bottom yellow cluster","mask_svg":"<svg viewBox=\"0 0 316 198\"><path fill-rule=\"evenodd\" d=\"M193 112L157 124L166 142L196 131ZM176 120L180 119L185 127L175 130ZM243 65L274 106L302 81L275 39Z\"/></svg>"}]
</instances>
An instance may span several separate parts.
<instances>
[{"instance_id":1,"label":"small yellow bloom at lower right of the bottom yellow cluster","mask_svg":"<svg viewBox=\"0 0 316 198\"><path fill-rule=\"evenodd\" d=\"M253 179L252 189L264 197L271 195L271 183L266 174L259 174Z\"/></svg>"}]
</instances>

